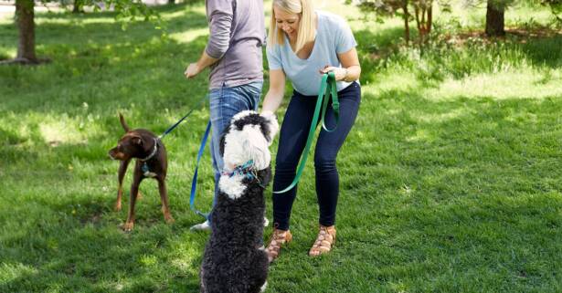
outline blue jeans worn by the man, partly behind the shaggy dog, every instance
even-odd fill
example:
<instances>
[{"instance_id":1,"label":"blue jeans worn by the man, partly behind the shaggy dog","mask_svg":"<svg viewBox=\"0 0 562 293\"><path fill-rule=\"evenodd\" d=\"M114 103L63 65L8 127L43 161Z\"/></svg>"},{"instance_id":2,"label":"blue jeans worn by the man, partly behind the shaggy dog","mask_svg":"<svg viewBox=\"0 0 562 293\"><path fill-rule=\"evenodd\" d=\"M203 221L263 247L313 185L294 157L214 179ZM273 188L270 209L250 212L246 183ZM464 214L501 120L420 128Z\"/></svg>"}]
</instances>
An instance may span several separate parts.
<instances>
[{"instance_id":1,"label":"blue jeans worn by the man, partly behind the shaggy dog","mask_svg":"<svg viewBox=\"0 0 562 293\"><path fill-rule=\"evenodd\" d=\"M261 88L263 83L252 82L249 84L220 89L211 89L209 93L211 110L211 157L213 159L213 170L215 172L215 198L218 195L218 179L224 166L220 155L220 136L230 125L232 117L242 110L258 110L260 104Z\"/></svg>"}]
</instances>

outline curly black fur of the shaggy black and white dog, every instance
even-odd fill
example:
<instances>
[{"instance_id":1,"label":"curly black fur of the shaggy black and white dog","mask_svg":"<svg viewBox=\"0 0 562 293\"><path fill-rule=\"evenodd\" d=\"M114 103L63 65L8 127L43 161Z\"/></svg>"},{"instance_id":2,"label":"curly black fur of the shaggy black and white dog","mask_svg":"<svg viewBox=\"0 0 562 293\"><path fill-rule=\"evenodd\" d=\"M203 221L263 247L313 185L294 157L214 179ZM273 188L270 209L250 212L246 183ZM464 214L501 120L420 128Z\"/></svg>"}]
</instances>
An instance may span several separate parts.
<instances>
[{"instance_id":1,"label":"curly black fur of the shaggy black and white dog","mask_svg":"<svg viewBox=\"0 0 562 293\"><path fill-rule=\"evenodd\" d=\"M239 129L260 124L263 134L269 135L269 127L260 115L249 115L233 124ZM221 153L228 132L229 128L223 133ZM257 179L242 180L246 189L236 199L219 191L200 271L202 293L258 293L267 280L268 256L260 246L265 213L263 191L270 183L270 166L256 176Z\"/></svg>"}]
</instances>

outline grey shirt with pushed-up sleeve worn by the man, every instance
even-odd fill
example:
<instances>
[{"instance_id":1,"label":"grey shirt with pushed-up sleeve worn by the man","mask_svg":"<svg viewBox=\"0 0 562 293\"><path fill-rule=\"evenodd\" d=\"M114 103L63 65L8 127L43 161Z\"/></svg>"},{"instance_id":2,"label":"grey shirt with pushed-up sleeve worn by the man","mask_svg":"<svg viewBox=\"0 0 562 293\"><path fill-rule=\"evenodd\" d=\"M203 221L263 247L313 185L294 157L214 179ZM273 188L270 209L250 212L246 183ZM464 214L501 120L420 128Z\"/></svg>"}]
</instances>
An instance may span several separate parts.
<instances>
[{"instance_id":1,"label":"grey shirt with pushed-up sleeve worn by the man","mask_svg":"<svg viewBox=\"0 0 562 293\"><path fill-rule=\"evenodd\" d=\"M209 88L263 81L263 1L206 0L206 5L210 36L205 51L220 59L211 66Z\"/></svg>"}]
</instances>

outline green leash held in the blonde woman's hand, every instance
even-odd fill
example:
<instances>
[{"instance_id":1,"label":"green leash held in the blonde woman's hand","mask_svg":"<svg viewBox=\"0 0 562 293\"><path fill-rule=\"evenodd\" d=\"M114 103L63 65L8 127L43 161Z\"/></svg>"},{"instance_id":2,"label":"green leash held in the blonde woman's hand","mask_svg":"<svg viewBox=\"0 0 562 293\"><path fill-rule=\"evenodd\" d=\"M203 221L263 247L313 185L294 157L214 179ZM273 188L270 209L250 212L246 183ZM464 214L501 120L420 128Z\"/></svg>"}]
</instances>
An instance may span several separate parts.
<instances>
[{"instance_id":1,"label":"green leash held in the blonde woman's hand","mask_svg":"<svg viewBox=\"0 0 562 293\"><path fill-rule=\"evenodd\" d=\"M335 126L333 129L329 130L326 127L324 122L324 118L326 116L326 110L328 108L328 101L332 97L332 108L334 109L334 116L335 116ZM327 74L324 73L322 76L322 82L320 83L320 89L318 91L318 99L316 100L316 108L314 109L314 116L313 121L311 123L311 128L308 131L308 139L306 140L306 146L304 147L304 152L302 154L301 162L299 163L299 167L297 168L297 174L292 180L291 185L287 186L287 188L273 192L273 194L283 194L288 192L292 189L299 180L301 179L302 170L304 170L304 165L306 164L306 159L308 158L308 152L311 149L311 145L313 144L314 132L316 130L316 125L318 125L318 119L320 117L320 110L322 109L322 128L324 131L332 132L335 131L337 128L337 124L340 120L340 102L337 99L337 89L335 87L335 75L334 72L328 72Z\"/></svg>"}]
</instances>

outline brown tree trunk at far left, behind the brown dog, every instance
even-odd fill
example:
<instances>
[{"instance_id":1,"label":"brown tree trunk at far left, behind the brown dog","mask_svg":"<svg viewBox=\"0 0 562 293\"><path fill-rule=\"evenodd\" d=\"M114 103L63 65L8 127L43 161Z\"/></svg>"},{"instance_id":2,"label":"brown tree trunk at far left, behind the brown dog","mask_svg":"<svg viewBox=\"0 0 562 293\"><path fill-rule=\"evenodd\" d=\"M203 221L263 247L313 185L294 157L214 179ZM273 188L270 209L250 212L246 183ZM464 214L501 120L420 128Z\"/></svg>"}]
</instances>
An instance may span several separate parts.
<instances>
[{"instance_id":1,"label":"brown tree trunk at far left, behind the brown dog","mask_svg":"<svg viewBox=\"0 0 562 293\"><path fill-rule=\"evenodd\" d=\"M19 29L17 57L25 63L37 63L35 55L35 23L33 0L16 0L16 22Z\"/></svg>"}]
</instances>

